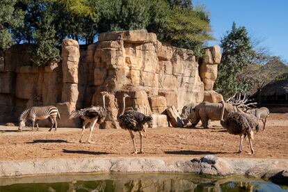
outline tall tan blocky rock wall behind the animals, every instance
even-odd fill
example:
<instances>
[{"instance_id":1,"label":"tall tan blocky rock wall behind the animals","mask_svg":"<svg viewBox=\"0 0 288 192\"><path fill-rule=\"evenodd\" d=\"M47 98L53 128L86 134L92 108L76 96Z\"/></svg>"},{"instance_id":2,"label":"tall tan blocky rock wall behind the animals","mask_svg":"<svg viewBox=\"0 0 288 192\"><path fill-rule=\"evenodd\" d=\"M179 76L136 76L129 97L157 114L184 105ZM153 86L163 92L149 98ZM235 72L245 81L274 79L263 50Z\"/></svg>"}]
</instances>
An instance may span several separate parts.
<instances>
[{"instance_id":1,"label":"tall tan blocky rock wall behind the animals","mask_svg":"<svg viewBox=\"0 0 288 192\"><path fill-rule=\"evenodd\" d=\"M159 114L168 106L181 111L186 104L202 102L213 88L219 47L206 49L207 56L198 62L193 51L162 45L145 30L102 33L98 40L85 50L79 50L77 41L63 40L62 66L51 61L31 67L28 45L0 52L0 122L16 121L27 107L55 105L60 127L79 127L79 120L68 119L70 112L103 105L100 92L106 90L110 94L102 127L117 128L124 93L131 96L128 109ZM166 125L164 119L155 125Z\"/></svg>"}]
</instances>

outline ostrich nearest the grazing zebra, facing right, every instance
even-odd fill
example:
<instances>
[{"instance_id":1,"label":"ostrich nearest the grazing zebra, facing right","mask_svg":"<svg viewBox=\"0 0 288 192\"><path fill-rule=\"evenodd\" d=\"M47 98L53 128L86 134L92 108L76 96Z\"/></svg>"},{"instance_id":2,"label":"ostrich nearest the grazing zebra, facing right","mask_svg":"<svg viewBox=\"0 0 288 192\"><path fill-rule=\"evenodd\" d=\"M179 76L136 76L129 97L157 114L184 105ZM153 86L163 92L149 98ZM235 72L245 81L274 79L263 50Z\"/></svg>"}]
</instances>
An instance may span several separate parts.
<instances>
[{"instance_id":1,"label":"ostrich nearest the grazing zebra, facing right","mask_svg":"<svg viewBox=\"0 0 288 192\"><path fill-rule=\"evenodd\" d=\"M80 143L82 143L83 133L84 133L84 130L86 128L86 125L88 125L88 123L90 123L90 135L88 138L88 143L94 143L90 139L91 139L95 124L96 124L96 122L98 124L101 124L102 122L104 122L104 120L106 118L105 96L108 93L105 91L102 91L101 94L102 94L102 99L103 99L103 106L86 107L86 108L78 110L78 111L72 111L72 113L70 115L70 118L80 117L81 119L84 120L83 126L82 126L81 138L79 140Z\"/></svg>"}]
</instances>

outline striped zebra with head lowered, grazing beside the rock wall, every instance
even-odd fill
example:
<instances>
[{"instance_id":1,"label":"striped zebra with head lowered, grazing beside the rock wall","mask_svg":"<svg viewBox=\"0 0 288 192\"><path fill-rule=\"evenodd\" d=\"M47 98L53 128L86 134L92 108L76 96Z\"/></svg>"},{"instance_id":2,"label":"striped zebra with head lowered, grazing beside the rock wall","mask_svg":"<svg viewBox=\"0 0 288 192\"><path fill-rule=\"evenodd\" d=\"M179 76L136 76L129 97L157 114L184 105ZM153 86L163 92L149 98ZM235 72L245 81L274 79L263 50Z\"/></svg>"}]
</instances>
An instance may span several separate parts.
<instances>
[{"instance_id":1,"label":"striped zebra with head lowered, grazing beside the rock wall","mask_svg":"<svg viewBox=\"0 0 288 192\"><path fill-rule=\"evenodd\" d=\"M23 127L25 127L25 123L29 120L32 121L32 131L34 129L34 125L36 122L37 125L37 131L39 129L38 127L38 120L46 120L47 118L50 118L51 120L51 129L53 128L55 124L55 131L57 130L57 120L56 118L61 119L60 113L56 106L33 106L30 109L26 109L23 111L23 113L19 116L19 127L18 130L22 131Z\"/></svg>"}]
</instances>

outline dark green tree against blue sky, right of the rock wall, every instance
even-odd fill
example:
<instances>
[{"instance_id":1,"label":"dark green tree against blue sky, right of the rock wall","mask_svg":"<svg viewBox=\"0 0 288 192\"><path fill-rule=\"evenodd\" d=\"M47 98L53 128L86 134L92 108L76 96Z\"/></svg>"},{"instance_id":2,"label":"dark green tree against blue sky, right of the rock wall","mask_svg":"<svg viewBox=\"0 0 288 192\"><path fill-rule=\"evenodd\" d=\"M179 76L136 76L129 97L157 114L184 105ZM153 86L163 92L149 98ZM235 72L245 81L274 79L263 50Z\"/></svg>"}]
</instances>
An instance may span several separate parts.
<instances>
[{"instance_id":1,"label":"dark green tree against blue sky, right of the rock wall","mask_svg":"<svg viewBox=\"0 0 288 192\"><path fill-rule=\"evenodd\" d=\"M218 69L216 90L224 96L241 93L248 90L250 82L247 79L237 79L244 67L253 62L255 51L244 26L237 27L235 22L232 30L221 38L223 54Z\"/></svg>"}]
</instances>

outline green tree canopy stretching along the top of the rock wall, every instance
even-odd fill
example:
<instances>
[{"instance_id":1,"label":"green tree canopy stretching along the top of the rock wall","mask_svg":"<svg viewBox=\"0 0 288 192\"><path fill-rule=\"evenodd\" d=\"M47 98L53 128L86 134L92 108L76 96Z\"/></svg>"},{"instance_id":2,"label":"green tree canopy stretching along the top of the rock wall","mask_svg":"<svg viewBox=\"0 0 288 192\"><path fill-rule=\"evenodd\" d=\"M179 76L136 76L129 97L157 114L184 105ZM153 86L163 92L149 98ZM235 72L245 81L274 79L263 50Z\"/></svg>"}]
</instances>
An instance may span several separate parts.
<instances>
[{"instance_id":1,"label":"green tree canopy stretching along the top of the rock wall","mask_svg":"<svg viewBox=\"0 0 288 192\"><path fill-rule=\"evenodd\" d=\"M35 44L36 65L58 57L63 38L90 44L106 31L147 29L197 56L212 39L209 15L190 0L3 0L0 6L0 48L13 40Z\"/></svg>"}]
</instances>

